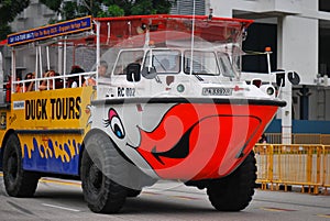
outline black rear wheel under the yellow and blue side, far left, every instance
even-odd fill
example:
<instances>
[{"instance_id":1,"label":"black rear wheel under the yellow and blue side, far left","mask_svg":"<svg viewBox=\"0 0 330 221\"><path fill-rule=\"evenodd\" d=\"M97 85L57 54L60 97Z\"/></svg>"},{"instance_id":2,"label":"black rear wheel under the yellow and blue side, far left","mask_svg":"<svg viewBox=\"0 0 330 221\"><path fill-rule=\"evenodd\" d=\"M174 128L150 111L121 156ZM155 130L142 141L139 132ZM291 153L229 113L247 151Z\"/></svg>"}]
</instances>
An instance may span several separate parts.
<instances>
[{"instance_id":1,"label":"black rear wheel under the yellow and blue side, far left","mask_svg":"<svg viewBox=\"0 0 330 221\"><path fill-rule=\"evenodd\" d=\"M3 180L6 191L11 197L32 197L40 176L23 169L22 151L19 137L9 136L3 153Z\"/></svg>"}]
</instances>

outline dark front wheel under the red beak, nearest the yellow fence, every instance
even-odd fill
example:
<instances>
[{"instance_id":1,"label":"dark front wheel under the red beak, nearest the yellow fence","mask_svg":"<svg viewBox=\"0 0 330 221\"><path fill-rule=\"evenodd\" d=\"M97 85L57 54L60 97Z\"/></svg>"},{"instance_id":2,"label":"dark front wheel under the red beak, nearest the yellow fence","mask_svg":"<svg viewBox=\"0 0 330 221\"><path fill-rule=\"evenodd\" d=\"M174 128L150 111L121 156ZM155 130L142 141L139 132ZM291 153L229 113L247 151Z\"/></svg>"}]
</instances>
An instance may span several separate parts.
<instances>
[{"instance_id":1,"label":"dark front wheel under the red beak, nearest the yellow fence","mask_svg":"<svg viewBox=\"0 0 330 221\"><path fill-rule=\"evenodd\" d=\"M229 176L211 180L207 194L219 211L240 211L248 207L254 195L256 162L251 152L244 162Z\"/></svg>"}]
</instances>

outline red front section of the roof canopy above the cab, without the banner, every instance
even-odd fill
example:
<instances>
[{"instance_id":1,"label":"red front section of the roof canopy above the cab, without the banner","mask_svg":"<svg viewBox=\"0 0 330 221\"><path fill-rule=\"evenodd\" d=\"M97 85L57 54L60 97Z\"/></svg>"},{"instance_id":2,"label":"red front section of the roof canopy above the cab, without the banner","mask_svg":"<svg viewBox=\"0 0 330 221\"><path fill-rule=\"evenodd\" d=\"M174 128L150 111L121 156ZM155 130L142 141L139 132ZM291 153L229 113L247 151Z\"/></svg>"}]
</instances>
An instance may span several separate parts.
<instances>
[{"instance_id":1,"label":"red front section of the roof canopy above the cab, without the banner","mask_svg":"<svg viewBox=\"0 0 330 221\"><path fill-rule=\"evenodd\" d=\"M235 42L242 29L252 23L252 20L242 19L169 14L97 18L95 20L101 23L101 43L111 45L146 32L150 32L150 41L154 43L173 41L176 37L180 40L183 36L178 33L187 36L187 34L191 35L193 30L194 36L207 42ZM195 24L194 29L193 24Z\"/></svg>"}]
</instances>

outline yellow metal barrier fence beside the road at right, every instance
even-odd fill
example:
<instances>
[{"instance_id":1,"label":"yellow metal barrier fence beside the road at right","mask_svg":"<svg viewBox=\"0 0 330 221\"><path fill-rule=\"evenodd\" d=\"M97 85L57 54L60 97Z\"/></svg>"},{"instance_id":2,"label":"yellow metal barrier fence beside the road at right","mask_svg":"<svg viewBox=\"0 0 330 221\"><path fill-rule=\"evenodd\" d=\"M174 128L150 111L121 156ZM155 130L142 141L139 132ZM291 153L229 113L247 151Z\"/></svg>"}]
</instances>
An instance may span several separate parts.
<instances>
[{"instance_id":1,"label":"yellow metal barrier fence beside the road at right","mask_svg":"<svg viewBox=\"0 0 330 221\"><path fill-rule=\"evenodd\" d=\"M256 144L257 184L272 190L301 186L301 191L324 194L330 188L330 145Z\"/></svg>"}]
</instances>

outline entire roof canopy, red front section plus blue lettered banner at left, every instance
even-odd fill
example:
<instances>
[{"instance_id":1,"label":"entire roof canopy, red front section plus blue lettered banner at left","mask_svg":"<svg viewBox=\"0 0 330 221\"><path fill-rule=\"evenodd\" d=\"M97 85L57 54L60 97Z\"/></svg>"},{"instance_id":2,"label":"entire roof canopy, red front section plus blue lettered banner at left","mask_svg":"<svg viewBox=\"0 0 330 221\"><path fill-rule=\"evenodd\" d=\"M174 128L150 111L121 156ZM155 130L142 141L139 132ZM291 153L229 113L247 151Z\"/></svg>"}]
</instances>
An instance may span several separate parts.
<instances>
[{"instance_id":1,"label":"entire roof canopy, red front section plus blue lettered banner at left","mask_svg":"<svg viewBox=\"0 0 330 221\"><path fill-rule=\"evenodd\" d=\"M188 35L191 36L193 31L194 36L206 42L237 42L242 30L252 23L251 20L202 15L155 14L95 19L85 16L11 34L8 36L8 45L22 45L61 35L95 30L96 26L92 20L100 23L101 45L108 46L118 45L130 38L134 38L135 42L133 45L143 45L146 37L150 42L161 44L166 41L187 38ZM75 44L95 44L96 35L88 35L80 38L68 37L68 41Z\"/></svg>"}]
</instances>

